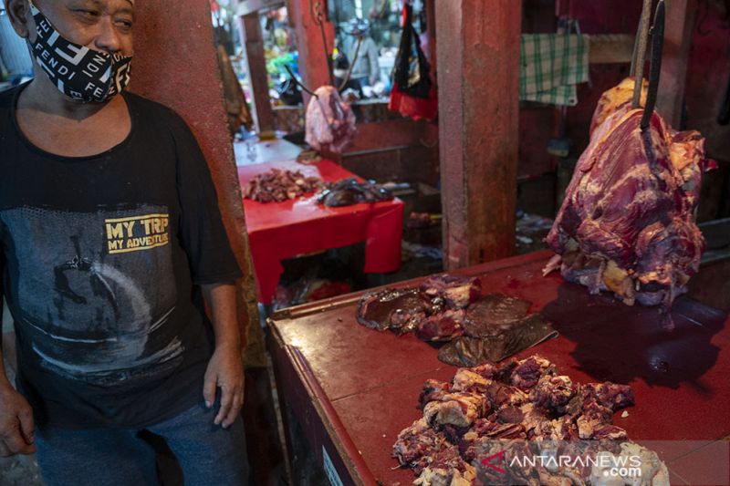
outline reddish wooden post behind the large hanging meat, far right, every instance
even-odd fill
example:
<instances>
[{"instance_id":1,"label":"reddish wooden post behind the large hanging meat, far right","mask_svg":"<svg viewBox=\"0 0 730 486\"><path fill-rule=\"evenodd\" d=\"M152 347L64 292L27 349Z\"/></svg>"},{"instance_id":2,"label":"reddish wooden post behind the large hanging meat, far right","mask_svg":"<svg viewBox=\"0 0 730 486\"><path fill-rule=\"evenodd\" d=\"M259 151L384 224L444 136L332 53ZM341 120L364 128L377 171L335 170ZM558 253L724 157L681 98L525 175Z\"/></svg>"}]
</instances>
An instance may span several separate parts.
<instances>
[{"instance_id":1,"label":"reddish wooden post behind the large hanging meat, far right","mask_svg":"<svg viewBox=\"0 0 730 486\"><path fill-rule=\"evenodd\" d=\"M665 1L664 52L656 110L673 128L679 129L697 5L696 0Z\"/></svg>"}]
</instances>

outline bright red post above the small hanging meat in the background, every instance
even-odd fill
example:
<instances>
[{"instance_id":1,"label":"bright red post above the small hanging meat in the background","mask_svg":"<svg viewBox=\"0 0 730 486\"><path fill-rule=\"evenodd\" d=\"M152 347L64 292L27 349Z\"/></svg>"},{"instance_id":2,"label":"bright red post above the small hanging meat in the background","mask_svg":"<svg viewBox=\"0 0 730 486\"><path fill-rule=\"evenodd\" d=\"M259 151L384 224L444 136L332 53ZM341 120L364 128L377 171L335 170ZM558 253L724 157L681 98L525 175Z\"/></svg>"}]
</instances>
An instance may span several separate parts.
<instances>
[{"instance_id":1,"label":"bright red post above the small hanging meat in the background","mask_svg":"<svg viewBox=\"0 0 730 486\"><path fill-rule=\"evenodd\" d=\"M329 0L332 1L332 0ZM327 21L326 0L287 0L289 24L294 27L297 36L299 52L299 73L304 86L315 90L320 86L329 85L328 56L334 48L335 30L331 22ZM325 37L327 39L328 54L325 54L322 45L322 34L316 19L318 12L324 18ZM303 93L305 106L308 94Z\"/></svg>"}]
</instances>

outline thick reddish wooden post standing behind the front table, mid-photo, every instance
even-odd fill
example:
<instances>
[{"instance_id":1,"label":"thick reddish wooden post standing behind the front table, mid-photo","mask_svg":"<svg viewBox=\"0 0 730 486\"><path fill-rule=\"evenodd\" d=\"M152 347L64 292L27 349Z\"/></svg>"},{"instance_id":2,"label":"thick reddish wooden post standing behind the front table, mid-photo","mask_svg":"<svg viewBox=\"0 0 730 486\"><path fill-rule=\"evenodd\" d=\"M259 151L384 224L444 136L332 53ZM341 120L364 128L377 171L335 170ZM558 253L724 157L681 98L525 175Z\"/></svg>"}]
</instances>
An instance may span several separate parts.
<instances>
[{"instance_id":1,"label":"thick reddish wooden post standing behind the front table, mid-photo","mask_svg":"<svg viewBox=\"0 0 730 486\"><path fill-rule=\"evenodd\" d=\"M515 250L521 3L436 2L447 269Z\"/></svg>"}]
</instances>

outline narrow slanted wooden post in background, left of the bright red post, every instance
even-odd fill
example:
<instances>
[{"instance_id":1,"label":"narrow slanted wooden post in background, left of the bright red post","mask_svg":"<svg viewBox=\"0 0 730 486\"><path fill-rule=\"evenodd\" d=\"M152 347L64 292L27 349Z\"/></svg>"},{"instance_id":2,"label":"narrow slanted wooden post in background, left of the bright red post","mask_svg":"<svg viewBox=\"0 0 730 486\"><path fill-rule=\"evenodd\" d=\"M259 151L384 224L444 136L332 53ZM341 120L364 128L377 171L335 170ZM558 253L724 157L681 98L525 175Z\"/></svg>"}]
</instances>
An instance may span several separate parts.
<instances>
[{"instance_id":1,"label":"narrow slanted wooden post in background, left of the bright red post","mask_svg":"<svg viewBox=\"0 0 730 486\"><path fill-rule=\"evenodd\" d=\"M256 131L274 129L274 111L268 97L268 75L264 56L264 38L258 13L240 17L241 43L244 45L246 72L251 85L252 111Z\"/></svg>"}]
</instances>

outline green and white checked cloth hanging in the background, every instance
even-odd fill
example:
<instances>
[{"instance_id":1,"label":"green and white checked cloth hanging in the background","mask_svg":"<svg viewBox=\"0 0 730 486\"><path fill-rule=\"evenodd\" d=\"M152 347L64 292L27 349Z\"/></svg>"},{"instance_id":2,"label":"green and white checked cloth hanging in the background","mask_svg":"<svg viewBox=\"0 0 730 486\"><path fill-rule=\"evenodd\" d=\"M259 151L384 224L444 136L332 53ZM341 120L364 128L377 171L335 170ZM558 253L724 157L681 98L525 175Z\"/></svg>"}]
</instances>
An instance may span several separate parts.
<instances>
[{"instance_id":1,"label":"green and white checked cloth hanging in the background","mask_svg":"<svg viewBox=\"0 0 730 486\"><path fill-rule=\"evenodd\" d=\"M578 104L576 85L588 81L589 36L523 34L519 98L552 105Z\"/></svg>"}]
</instances>

